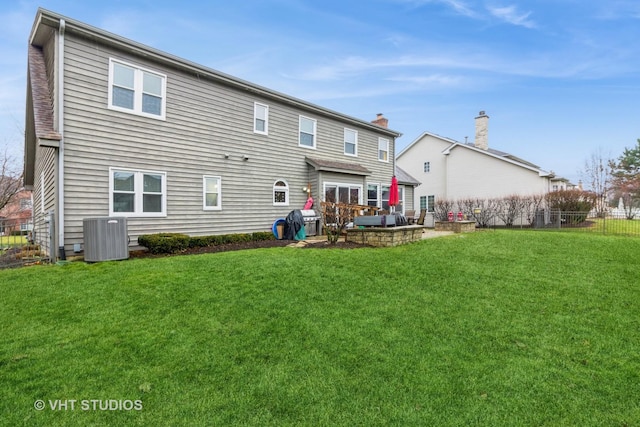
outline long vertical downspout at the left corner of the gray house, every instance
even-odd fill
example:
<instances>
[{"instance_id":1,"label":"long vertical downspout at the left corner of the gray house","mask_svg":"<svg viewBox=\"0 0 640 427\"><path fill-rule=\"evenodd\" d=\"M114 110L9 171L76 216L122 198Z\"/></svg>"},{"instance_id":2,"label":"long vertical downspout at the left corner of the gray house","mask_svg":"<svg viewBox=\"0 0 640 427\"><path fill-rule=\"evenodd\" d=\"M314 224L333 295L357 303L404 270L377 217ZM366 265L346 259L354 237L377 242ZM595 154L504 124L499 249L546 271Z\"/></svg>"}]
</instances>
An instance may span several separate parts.
<instances>
[{"instance_id":1,"label":"long vertical downspout at the left corner of the gray house","mask_svg":"<svg viewBox=\"0 0 640 427\"><path fill-rule=\"evenodd\" d=\"M60 19L58 29L58 72L57 72L57 110L58 133L60 148L58 148L58 258L67 259L64 251L64 31L66 22Z\"/></svg>"}]
</instances>

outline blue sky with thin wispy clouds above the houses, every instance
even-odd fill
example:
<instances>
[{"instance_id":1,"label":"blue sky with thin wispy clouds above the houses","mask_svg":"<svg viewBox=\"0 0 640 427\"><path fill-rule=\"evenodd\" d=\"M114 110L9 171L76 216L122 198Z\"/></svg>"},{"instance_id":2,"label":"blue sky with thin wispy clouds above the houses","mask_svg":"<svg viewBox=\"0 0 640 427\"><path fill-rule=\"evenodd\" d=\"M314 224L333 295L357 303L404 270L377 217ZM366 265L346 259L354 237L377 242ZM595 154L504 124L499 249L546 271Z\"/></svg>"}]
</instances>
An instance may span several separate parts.
<instances>
[{"instance_id":1,"label":"blue sky with thin wispy clouds above the houses","mask_svg":"<svg viewBox=\"0 0 640 427\"><path fill-rule=\"evenodd\" d=\"M194 2L195 3L195 2ZM574 182L640 138L637 0L0 0L0 147L21 156L38 6L402 132L474 138Z\"/></svg>"}]
</instances>

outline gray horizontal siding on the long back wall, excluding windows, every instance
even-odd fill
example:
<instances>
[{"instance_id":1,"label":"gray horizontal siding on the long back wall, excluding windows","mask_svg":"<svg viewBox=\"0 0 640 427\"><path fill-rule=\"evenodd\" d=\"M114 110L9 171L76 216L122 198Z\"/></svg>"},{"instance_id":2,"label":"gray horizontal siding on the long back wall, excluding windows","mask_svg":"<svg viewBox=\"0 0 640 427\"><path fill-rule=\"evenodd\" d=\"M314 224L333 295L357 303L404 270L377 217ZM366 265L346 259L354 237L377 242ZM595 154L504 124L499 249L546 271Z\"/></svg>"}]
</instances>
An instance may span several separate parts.
<instances>
[{"instance_id":1,"label":"gray horizontal siding on the long back wall, excluding windows","mask_svg":"<svg viewBox=\"0 0 640 427\"><path fill-rule=\"evenodd\" d=\"M360 163L388 181L393 164L377 160L378 134L358 130L357 158L343 153L344 123L254 94L158 67L86 40L65 46L65 227L67 245L82 241L82 218L108 215L109 167L167 174L167 217L129 218L132 237L158 231L221 234L270 230L301 208L311 179L305 156ZM109 57L167 75L166 120L109 110ZM254 102L269 105L269 135L253 132ZM298 116L317 120L317 149L298 147ZM391 139L390 152L393 153ZM226 159L224 154L229 154ZM241 156L247 155L248 161ZM202 209L202 176L222 177L222 210ZM290 205L272 205L285 179ZM319 183L314 183L314 196Z\"/></svg>"}]
</instances>

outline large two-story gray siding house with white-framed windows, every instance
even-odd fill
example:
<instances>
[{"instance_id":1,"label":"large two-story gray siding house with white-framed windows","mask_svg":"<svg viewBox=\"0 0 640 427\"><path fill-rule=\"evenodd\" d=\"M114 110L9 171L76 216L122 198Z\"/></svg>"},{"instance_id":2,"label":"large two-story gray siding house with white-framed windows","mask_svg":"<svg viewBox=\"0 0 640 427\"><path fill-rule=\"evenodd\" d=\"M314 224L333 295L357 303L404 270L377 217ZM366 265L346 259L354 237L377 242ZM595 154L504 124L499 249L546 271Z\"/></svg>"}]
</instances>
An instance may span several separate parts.
<instances>
[{"instance_id":1,"label":"large two-story gray siding house with white-framed windows","mask_svg":"<svg viewBox=\"0 0 640 427\"><path fill-rule=\"evenodd\" d=\"M321 200L383 206L398 132L39 9L28 46L25 185L58 254L83 219L141 234L269 231ZM412 195L411 195L412 196ZM411 197L413 198L413 197ZM52 254L55 256L55 254Z\"/></svg>"}]
</instances>

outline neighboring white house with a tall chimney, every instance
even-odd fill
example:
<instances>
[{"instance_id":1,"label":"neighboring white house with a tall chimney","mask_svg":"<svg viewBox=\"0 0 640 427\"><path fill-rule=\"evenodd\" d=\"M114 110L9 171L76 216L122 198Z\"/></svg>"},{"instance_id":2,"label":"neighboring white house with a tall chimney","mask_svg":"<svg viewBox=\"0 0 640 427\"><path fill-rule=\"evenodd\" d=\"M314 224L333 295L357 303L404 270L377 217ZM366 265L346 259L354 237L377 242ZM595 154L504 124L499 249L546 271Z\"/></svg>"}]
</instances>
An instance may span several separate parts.
<instances>
[{"instance_id":1,"label":"neighboring white house with a tall chimney","mask_svg":"<svg viewBox=\"0 0 640 427\"><path fill-rule=\"evenodd\" d=\"M489 148L489 116L476 117L475 142L462 143L424 132L396 156L396 163L421 182L416 208L433 212L436 200L499 198L552 191L552 172L509 153Z\"/></svg>"}]
</instances>

